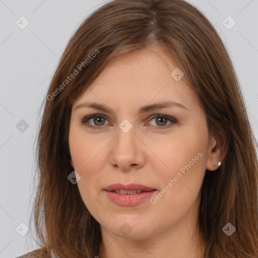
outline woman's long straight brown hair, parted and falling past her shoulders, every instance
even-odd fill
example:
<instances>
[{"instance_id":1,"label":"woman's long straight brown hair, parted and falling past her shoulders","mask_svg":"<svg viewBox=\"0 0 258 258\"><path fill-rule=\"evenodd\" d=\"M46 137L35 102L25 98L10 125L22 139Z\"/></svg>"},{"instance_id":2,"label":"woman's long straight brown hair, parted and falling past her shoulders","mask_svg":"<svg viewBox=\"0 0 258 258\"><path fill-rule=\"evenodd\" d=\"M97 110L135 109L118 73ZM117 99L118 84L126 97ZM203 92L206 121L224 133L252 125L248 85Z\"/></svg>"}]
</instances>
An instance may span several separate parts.
<instances>
[{"instance_id":1,"label":"woman's long straight brown hair, parted and falling past her shoulders","mask_svg":"<svg viewBox=\"0 0 258 258\"><path fill-rule=\"evenodd\" d=\"M41 247L38 257L51 249L61 258L98 254L99 223L77 184L68 180L73 171L71 107L112 58L153 45L176 61L198 96L210 134L220 148L227 146L226 152L221 150L222 165L206 171L201 188L198 225L205 257L258 256L257 143L222 40L208 19L183 0L114 0L94 11L70 39L42 103L31 218ZM236 228L231 236L222 230L227 223Z\"/></svg>"}]
</instances>

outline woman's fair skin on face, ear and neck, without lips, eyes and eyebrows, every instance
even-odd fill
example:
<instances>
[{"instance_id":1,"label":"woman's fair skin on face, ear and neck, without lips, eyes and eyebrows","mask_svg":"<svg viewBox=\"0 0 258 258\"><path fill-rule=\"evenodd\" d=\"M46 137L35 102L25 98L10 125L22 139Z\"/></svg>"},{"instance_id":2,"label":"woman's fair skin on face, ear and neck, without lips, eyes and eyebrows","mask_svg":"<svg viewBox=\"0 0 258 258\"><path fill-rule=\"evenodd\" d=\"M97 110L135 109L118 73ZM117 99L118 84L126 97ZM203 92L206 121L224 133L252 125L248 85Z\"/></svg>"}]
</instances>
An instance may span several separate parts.
<instances>
[{"instance_id":1,"label":"woman's fair skin on face, ear and neck, without lips, eyes and eyebrows","mask_svg":"<svg viewBox=\"0 0 258 258\"><path fill-rule=\"evenodd\" d=\"M167 64L169 67L167 67ZM99 222L101 258L203 257L196 252L200 189L206 169L220 161L218 144L208 132L206 116L186 76L175 81L175 62L162 49L149 48L119 55L96 78L72 107L69 144L71 166L80 174L82 199ZM140 107L175 101L172 106L138 113ZM113 112L75 107L84 102L103 104ZM80 120L102 114L106 119ZM155 114L176 119L155 121ZM119 124L132 128L124 133ZM171 125L165 129L162 126ZM150 200L124 207L112 203L103 190L113 183L140 183L160 192L192 158L202 154L155 204ZM212 173L212 172L210 172ZM181 173L182 174L182 173ZM132 231L119 228L127 223ZM140 256L141 255L141 256Z\"/></svg>"}]
</instances>

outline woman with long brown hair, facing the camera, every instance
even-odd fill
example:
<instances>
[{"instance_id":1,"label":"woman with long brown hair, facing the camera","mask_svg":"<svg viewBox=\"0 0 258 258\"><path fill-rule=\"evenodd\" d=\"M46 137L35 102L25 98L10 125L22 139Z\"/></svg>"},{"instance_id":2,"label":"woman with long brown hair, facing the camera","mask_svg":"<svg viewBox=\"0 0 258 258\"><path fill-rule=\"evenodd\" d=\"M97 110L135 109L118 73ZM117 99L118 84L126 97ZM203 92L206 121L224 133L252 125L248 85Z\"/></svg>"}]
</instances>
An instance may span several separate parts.
<instances>
[{"instance_id":1,"label":"woman with long brown hair, facing the camera","mask_svg":"<svg viewBox=\"0 0 258 258\"><path fill-rule=\"evenodd\" d=\"M44 104L42 248L30 255L257 257L257 143L229 55L195 7L105 4L71 38Z\"/></svg>"}]
</instances>

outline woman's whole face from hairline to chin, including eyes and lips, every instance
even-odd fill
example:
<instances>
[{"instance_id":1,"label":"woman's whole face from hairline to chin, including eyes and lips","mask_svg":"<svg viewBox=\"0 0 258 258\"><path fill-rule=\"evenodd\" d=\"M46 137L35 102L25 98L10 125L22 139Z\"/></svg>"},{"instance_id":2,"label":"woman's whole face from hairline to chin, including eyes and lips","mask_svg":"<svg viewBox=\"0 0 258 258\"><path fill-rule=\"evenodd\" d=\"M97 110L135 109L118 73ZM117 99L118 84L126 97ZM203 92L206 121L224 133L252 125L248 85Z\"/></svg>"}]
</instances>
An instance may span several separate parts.
<instances>
[{"instance_id":1,"label":"woman's whole face from hairline to chin, including eyes and lips","mask_svg":"<svg viewBox=\"0 0 258 258\"><path fill-rule=\"evenodd\" d=\"M205 171L215 170L216 141L185 77L179 70L172 73L176 80L171 76L174 69L162 50L125 53L73 104L71 165L102 232L144 239L197 219Z\"/></svg>"}]
</instances>

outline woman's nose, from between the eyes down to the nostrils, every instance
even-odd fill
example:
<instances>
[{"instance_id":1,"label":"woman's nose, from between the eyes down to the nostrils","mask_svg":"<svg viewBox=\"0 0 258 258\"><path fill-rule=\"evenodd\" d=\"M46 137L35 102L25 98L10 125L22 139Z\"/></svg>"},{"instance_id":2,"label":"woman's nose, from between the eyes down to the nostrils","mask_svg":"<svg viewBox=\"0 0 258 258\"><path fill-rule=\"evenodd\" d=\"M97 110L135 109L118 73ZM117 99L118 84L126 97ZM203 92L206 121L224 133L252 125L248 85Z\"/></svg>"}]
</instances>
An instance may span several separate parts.
<instances>
[{"instance_id":1,"label":"woman's nose, from between the eyes down to the nostrils","mask_svg":"<svg viewBox=\"0 0 258 258\"><path fill-rule=\"evenodd\" d=\"M112 141L109 162L123 171L139 169L145 163L143 150L144 144L136 136L134 127L127 133L118 128L117 136Z\"/></svg>"}]
</instances>

